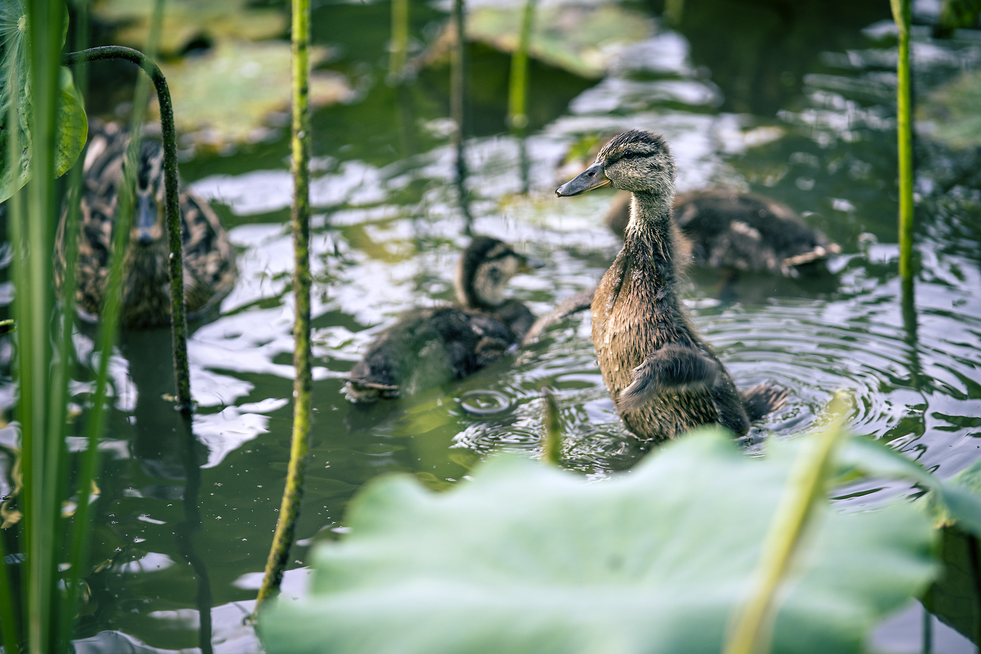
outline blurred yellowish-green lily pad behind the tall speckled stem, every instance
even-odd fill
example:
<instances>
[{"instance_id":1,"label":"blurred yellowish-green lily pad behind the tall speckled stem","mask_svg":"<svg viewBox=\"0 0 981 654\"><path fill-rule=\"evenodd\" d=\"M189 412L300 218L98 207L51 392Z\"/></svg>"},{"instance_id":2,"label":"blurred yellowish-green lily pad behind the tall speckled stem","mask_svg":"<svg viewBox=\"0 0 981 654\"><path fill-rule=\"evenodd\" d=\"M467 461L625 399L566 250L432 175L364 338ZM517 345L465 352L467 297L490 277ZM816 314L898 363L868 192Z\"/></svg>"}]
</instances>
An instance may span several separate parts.
<instances>
[{"instance_id":1,"label":"blurred yellowish-green lily pad behind the tall speckled stem","mask_svg":"<svg viewBox=\"0 0 981 654\"><path fill-rule=\"evenodd\" d=\"M314 65L327 56L313 48ZM217 148L269 136L270 121L290 104L290 55L285 41L222 41L206 53L161 66L174 100L177 129L192 144ZM310 105L348 98L343 76L315 71ZM159 116L154 101L151 112Z\"/></svg>"}]
</instances>

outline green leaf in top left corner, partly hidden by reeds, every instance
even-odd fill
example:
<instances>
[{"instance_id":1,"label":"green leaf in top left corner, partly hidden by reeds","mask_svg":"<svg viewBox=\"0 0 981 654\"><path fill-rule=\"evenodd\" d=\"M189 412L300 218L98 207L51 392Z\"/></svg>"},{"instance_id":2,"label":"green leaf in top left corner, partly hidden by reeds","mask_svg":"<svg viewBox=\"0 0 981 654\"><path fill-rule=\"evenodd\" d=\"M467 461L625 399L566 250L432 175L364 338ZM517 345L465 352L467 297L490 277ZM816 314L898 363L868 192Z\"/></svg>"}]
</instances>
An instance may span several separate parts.
<instances>
[{"instance_id":1,"label":"green leaf in top left corner, partly hidden by reeds","mask_svg":"<svg viewBox=\"0 0 981 654\"><path fill-rule=\"evenodd\" d=\"M27 128L31 111L30 68L27 53L26 6L23 0L0 0L0 201L30 179L31 137ZM59 77L61 103L58 106L58 133L55 136L55 177L64 175L78 158L88 136L88 121L72 72L62 68ZM11 166L8 150L10 106L17 99L17 134L21 158Z\"/></svg>"}]
</instances>

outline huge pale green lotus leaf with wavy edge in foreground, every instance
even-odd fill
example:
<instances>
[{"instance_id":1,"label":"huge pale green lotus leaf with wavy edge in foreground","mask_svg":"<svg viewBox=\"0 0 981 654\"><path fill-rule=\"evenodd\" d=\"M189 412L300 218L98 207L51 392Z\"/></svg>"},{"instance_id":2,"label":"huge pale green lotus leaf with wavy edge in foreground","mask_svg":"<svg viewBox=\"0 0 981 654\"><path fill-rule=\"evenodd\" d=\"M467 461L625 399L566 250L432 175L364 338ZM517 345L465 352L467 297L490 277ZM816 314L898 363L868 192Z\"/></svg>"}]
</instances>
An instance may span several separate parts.
<instances>
[{"instance_id":1,"label":"huge pale green lotus leaf with wavy edge in foreground","mask_svg":"<svg viewBox=\"0 0 981 654\"><path fill-rule=\"evenodd\" d=\"M516 458L434 493L404 476L352 501L311 594L260 617L270 654L717 654L806 438L744 456L704 431L599 482ZM773 652L857 652L932 577L929 519L822 504L781 594Z\"/></svg>"}]
</instances>

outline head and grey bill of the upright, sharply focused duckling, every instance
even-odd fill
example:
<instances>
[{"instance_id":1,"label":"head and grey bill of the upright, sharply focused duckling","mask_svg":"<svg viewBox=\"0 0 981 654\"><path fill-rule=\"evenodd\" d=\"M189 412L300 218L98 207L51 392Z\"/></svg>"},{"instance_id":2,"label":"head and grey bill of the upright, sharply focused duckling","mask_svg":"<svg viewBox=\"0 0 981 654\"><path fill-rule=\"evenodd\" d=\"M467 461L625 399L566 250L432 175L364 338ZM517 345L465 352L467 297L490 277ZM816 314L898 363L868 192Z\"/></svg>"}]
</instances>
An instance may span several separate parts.
<instances>
[{"instance_id":1,"label":"head and grey bill of the upright, sharply focused duckling","mask_svg":"<svg viewBox=\"0 0 981 654\"><path fill-rule=\"evenodd\" d=\"M559 197L612 186L614 189L670 197L675 166L664 138L641 130L612 138L595 163L555 190Z\"/></svg>"}]
</instances>

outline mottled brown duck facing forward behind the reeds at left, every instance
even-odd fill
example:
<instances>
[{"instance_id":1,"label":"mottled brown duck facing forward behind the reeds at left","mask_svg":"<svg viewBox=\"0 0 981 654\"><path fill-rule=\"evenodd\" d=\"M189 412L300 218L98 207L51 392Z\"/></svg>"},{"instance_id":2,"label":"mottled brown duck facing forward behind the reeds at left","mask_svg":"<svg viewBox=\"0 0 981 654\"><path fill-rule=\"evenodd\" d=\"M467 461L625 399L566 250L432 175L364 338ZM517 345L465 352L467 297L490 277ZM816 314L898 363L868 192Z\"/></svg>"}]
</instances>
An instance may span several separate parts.
<instances>
[{"instance_id":1,"label":"mottled brown duck facing forward behind the reeds at left","mask_svg":"<svg viewBox=\"0 0 981 654\"><path fill-rule=\"evenodd\" d=\"M79 314L95 320L109 278L109 252L119 191L124 180L129 135L119 125L92 121L81 189L76 302ZM143 328L171 322L170 273L164 211L164 149L143 138L136 157L136 189L129 245L124 257L122 325ZM232 291L234 252L214 209L181 184L183 283L187 317L206 313ZM65 219L58 227L55 281L64 280Z\"/></svg>"}]
</instances>

